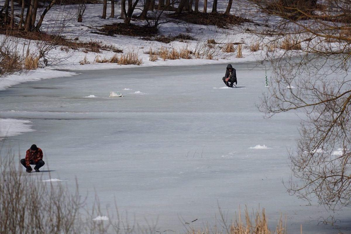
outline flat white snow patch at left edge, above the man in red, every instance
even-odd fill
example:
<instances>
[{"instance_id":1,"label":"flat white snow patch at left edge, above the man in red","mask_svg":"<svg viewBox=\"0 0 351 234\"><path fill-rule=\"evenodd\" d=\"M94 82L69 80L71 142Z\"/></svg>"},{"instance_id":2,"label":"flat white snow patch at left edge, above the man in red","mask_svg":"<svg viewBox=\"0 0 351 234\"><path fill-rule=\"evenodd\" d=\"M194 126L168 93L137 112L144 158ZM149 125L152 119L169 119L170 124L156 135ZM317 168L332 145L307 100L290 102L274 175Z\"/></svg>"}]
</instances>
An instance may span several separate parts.
<instances>
[{"instance_id":1,"label":"flat white snow patch at left edge, above the man in red","mask_svg":"<svg viewBox=\"0 0 351 234\"><path fill-rule=\"evenodd\" d=\"M12 111L11 111L12 112ZM0 141L9 136L17 136L25 132L33 132L29 120L0 119Z\"/></svg>"}]
</instances>

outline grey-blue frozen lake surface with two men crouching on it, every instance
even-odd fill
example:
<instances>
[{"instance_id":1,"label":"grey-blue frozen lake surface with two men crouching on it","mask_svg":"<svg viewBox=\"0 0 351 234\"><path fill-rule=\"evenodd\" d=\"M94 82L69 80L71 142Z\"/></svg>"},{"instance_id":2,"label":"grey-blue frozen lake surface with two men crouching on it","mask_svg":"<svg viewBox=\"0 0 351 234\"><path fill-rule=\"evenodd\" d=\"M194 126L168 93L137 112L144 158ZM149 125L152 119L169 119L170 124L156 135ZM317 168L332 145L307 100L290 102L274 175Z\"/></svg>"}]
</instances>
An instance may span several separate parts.
<instances>
[{"instance_id":1,"label":"grey-blue frozen lake surface with two men crouching on it","mask_svg":"<svg viewBox=\"0 0 351 234\"><path fill-rule=\"evenodd\" d=\"M298 116L264 119L255 106L264 69L233 67L233 89L221 80L226 64L79 71L22 83L0 91L0 117L29 120L35 131L2 142L23 158L37 144L46 165L31 176L47 180L50 170L72 189L77 177L88 204L95 189L103 212L114 210L115 199L121 214L140 225L157 222L160 232L184 230L195 219L192 225L214 226L218 206L232 219L247 204L266 209L271 229L283 214L290 234L300 233L300 224L303 233L337 233L318 225L330 215L324 207L289 196L282 183ZM109 98L111 91L124 97ZM333 215L338 225L350 224L350 209Z\"/></svg>"}]
</instances>

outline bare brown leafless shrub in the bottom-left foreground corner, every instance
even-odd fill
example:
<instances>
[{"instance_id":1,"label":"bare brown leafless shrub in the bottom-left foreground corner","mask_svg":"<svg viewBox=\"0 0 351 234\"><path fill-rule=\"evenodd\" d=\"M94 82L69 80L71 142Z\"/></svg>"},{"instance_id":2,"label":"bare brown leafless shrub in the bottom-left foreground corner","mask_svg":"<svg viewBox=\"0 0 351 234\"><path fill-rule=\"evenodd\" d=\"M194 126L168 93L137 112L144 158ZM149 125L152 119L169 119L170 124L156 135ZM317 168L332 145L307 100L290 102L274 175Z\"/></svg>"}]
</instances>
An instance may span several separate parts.
<instances>
[{"instance_id":1,"label":"bare brown leafless shrub in the bottom-left foreground corner","mask_svg":"<svg viewBox=\"0 0 351 234\"><path fill-rule=\"evenodd\" d=\"M70 194L60 183L53 185L16 169L14 155L0 157L0 233L67 233L84 232L79 209L84 198Z\"/></svg>"}]
</instances>

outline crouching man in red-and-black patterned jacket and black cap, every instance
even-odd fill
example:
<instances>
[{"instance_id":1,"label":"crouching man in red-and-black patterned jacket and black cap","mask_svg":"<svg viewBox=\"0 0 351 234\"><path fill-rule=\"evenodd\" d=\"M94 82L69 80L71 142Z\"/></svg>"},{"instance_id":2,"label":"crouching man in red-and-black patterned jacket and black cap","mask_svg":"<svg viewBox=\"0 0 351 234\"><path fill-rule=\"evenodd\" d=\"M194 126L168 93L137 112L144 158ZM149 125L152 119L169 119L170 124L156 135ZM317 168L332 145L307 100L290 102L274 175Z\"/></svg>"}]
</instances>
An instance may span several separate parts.
<instances>
[{"instance_id":1,"label":"crouching man in red-and-black patterned jacket and black cap","mask_svg":"<svg viewBox=\"0 0 351 234\"><path fill-rule=\"evenodd\" d=\"M36 145L32 145L26 152L26 158L21 159L21 164L26 168L26 172L31 172L32 167L30 164L35 165L35 172L39 172L39 168L44 166L43 152Z\"/></svg>"}]
</instances>

